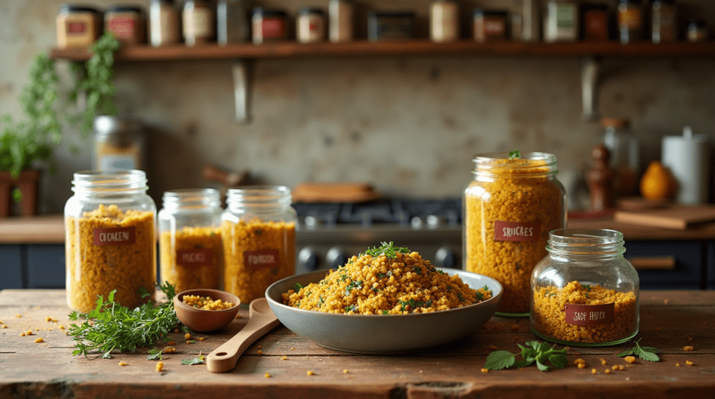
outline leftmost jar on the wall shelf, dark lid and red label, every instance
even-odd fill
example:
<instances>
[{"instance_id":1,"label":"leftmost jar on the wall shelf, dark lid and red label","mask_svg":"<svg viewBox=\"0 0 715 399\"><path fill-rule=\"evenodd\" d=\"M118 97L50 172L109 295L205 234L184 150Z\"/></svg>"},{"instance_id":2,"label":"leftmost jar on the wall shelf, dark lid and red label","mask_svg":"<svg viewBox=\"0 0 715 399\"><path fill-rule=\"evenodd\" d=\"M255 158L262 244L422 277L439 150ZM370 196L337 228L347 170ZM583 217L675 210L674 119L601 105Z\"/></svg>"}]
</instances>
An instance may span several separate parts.
<instances>
[{"instance_id":1,"label":"leftmost jar on the wall shelf, dark lid and red label","mask_svg":"<svg viewBox=\"0 0 715 399\"><path fill-rule=\"evenodd\" d=\"M102 31L102 14L91 7L62 4L56 25L60 49L92 46Z\"/></svg>"}]
</instances>

